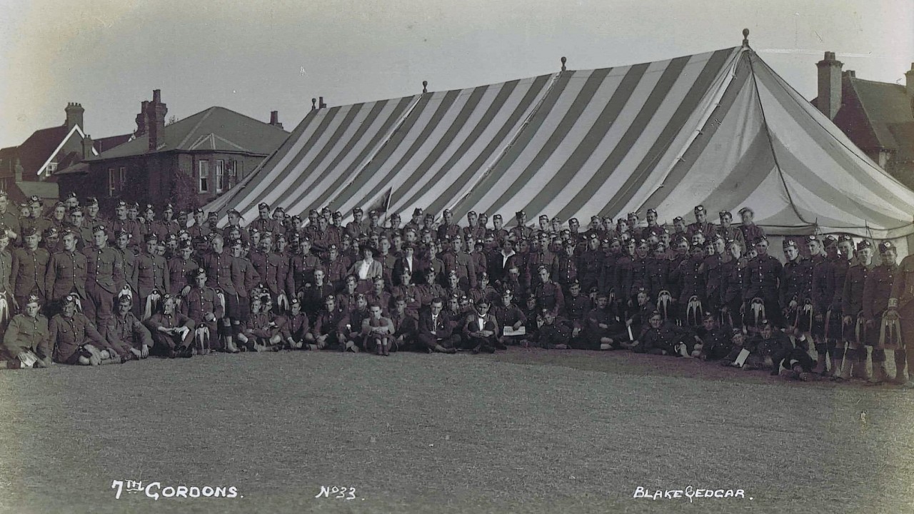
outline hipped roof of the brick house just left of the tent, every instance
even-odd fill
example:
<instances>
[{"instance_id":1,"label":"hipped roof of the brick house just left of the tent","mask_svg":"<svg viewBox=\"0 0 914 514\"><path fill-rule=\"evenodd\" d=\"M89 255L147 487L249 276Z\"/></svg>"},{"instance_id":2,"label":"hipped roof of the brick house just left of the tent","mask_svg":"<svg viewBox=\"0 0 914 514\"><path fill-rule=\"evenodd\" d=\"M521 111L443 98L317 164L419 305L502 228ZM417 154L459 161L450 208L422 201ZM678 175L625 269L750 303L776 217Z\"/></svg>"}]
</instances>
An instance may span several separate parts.
<instances>
[{"instance_id":1,"label":"hipped roof of the brick house just left of the tent","mask_svg":"<svg viewBox=\"0 0 914 514\"><path fill-rule=\"evenodd\" d=\"M155 153L211 150L268 155L289 135L279 127L263 123L224 107L210 107L165 126ZM149 135L102 152L90 162L149 154Z\"/></svg>"}]
</instances>

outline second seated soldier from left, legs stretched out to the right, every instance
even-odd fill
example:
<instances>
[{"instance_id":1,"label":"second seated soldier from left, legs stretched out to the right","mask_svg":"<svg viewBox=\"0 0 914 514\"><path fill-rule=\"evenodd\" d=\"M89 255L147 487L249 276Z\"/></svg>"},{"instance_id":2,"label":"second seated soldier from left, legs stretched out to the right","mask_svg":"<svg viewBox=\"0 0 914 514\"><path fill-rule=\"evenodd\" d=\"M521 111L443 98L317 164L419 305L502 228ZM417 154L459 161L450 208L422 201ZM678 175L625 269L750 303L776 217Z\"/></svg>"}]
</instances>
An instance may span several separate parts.
<instances>
[{"instance_id":1,"label":"second seated soldier from left, legs stretched out to the right","mask_svg":"<svg viewBox=\"0 0 914 514\"><path fill-rule=\"evenodd\" d=\"M54 362L98 366L121 363L133 357L129 348L112 347L88 317L76 312L75 294L64 296L61 308L62 312L52 317L48 324L48 340L54 347Z\"/></svg>"}]
</instances>

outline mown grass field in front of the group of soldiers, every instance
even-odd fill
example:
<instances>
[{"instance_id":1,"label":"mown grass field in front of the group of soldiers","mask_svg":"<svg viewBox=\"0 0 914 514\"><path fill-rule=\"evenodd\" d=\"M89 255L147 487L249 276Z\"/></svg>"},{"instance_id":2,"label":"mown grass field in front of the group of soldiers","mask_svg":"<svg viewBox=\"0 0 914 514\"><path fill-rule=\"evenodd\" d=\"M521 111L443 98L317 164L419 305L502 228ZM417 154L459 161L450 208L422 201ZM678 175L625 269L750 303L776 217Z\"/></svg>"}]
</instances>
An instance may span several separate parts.
<instances>
[{"instance_id":1,"label":"mown grass field in front of the group of soldiers","mask_svg":"<svg viewBox=\"0 0 914 514\"><path fill-rule=\"evenodd\" d=\"M912 399L518 348L4 370L0 511L911 512ZM127 479L238 498L115 499L112 480ZM322 486L356 498L314 498ZM636 487L745 498L636 499Z\"/></svg>"}]
</instances>

